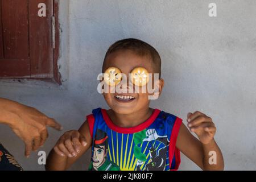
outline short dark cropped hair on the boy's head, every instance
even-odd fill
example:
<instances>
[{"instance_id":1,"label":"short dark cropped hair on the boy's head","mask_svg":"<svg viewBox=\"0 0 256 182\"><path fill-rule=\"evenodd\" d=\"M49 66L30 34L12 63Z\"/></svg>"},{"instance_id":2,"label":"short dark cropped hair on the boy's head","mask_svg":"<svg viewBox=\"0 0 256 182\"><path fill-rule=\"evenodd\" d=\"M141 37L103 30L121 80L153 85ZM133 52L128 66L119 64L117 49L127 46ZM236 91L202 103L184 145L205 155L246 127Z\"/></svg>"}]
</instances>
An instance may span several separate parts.
<instances>
[{"instance_id":1,"label":"short dark cropped hair on the boy's head","mask_svg":"<svg viewBox=\"0 0 256 182\"><path fill-rule=\"evenodd\" d=\"M118 40L109 47L104 57L102 72L105 69L104 65L106 57L119 50L131 50L139 56L149 56L154 64L155 73L159 73L159 78L161 77L161 58L158 51L156 51L150 44L134 38Z\"/></svg>"}]
</instances>

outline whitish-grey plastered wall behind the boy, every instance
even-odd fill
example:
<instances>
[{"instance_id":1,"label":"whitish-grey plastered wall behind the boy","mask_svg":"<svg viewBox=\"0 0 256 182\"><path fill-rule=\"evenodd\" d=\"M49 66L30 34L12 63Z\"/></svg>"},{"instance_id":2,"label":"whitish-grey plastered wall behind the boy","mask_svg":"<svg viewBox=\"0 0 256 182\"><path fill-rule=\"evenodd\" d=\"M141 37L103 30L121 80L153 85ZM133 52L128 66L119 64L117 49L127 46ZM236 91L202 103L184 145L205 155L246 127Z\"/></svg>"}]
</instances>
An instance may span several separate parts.
<instances>
[{"instance_id":1,"label":"whitish-grey plastered wall behind the boy","mask_svg":"<svg viewBox=\"0 0 256 182\"><path fill-rule=\"evenodd\" d=\"M0 97L37 107L64 130L77 129L95 107L107 107L97 93L97 74L106 49L118 39L142 39L162 56L165 87L151 107L186 119L200 110L213 118L225 169L256 169L256 1L60 1L63 86L1 82ZM49 129L42 150L61 133ZM23 156L23 144L6 126L0 140L24 169L42 170L36 153ZM72 169L87 169L90 152ZM182 170L199 169L181 155Z\"/></svg>"}]
</instances>

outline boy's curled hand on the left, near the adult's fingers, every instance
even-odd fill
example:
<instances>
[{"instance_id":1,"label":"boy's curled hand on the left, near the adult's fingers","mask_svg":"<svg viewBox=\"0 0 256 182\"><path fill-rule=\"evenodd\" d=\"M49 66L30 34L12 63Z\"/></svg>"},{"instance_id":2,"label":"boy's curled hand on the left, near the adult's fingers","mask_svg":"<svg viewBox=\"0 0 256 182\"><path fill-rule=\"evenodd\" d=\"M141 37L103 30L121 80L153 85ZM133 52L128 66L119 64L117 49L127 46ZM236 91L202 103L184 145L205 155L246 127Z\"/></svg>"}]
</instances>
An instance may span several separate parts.
<instances>
[{"instance_id":1,"label":"boy's curled hand on the left, near the adult's fingers","mask_svg":"<svg viewBox=\"0 0 256 182\"><path fill-rule=\"evenodd\" d=\"M65 132L54 146L54 151L60 156L73 158L80 153L81 147L86 146L87 142L79 131L71 130Z\"/></svg>"}]
</instances>

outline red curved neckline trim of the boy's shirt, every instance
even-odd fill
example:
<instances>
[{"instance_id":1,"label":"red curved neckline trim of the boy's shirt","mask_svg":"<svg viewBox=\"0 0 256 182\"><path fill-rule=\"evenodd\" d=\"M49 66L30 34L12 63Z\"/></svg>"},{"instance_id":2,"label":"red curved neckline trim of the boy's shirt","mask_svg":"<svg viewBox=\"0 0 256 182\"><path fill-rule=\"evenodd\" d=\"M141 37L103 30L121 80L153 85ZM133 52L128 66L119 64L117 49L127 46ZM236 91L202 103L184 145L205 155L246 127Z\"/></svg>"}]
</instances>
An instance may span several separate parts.
<instances>
[{"instance_id":1,"label":"red curved neckline trim of the boy's shirt","mask_svg":"<svg viewBox=\"0 0 256 182\"><path fill-rule=\"evenodd\" d=\"M136 132L142 131L142 130L146 129L148 126L150 126L155 121L155 119L158 117L160 110L155 109L153 111L153 113L151 114L150 118L148 118L146 121L139 124L138 126L134 126L134 127L119 127L111 121L111 119L109 118L109 115L108 115L108 113L106 113L105 109L101 109L101 113L106 122L106 125L108 125L108 127L110 129L114 130L117 133L131 134L131 133L136 133Z\"/></svg>"}]
</instances>

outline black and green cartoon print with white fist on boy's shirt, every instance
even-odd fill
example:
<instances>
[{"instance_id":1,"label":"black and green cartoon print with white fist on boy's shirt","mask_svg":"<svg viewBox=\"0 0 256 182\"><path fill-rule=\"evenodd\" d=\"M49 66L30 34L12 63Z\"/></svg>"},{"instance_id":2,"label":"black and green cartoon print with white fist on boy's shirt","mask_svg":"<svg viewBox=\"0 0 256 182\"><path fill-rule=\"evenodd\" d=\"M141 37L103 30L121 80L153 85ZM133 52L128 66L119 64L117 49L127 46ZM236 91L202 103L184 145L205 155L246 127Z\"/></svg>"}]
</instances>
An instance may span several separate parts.
<instances>
[{"instance_id":1,"label":"black and green cartoon print with white fist on boy's shirt","mask_svg":"<svg viewBox=\"0 0 256 182\"><path fill-rule=\"evenodd\" d=\"M145 154L138 147L139 143L150 142L150 147L147 150L150 152L150 161L146 164L146 171L163 171L166 167L166 153L168 150L169 141L167 135L160 136L155 129L143 130L135 135L134 155L137 160L137 171L141 171L141 166L146 162ZM162 147L155 147L153 142L162 143Z\"/></svg>"}]
</instances>

